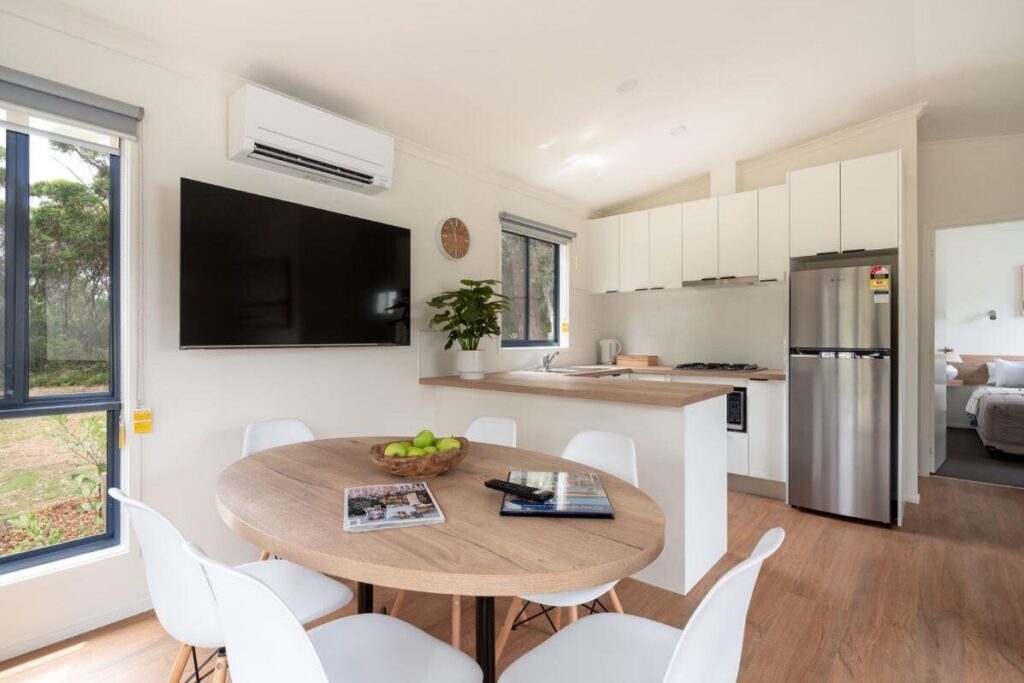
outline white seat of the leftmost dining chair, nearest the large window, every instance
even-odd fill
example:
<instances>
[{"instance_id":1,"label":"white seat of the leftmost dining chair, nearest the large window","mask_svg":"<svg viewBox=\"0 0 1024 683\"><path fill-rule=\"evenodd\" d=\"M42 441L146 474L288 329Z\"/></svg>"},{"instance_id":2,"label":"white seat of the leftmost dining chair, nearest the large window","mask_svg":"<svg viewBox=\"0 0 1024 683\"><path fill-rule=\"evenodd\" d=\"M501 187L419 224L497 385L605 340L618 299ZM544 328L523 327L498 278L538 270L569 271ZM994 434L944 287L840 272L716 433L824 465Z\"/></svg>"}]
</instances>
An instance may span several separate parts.
<instances>
[{"instance_id":1,"label":"white seat of the leftmost dining chair, nearest the large window","mask_svg":"<svg viewBox=\"0 0 1024 683\"><path fill-rule=\"evenodd\" d=\"M344 584L288 560L249 562L236 567L278 594L302 624L318 620L352 601Z\"/></svg>"}]
</instances>

